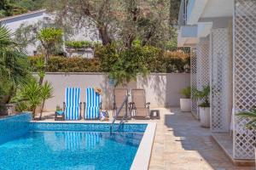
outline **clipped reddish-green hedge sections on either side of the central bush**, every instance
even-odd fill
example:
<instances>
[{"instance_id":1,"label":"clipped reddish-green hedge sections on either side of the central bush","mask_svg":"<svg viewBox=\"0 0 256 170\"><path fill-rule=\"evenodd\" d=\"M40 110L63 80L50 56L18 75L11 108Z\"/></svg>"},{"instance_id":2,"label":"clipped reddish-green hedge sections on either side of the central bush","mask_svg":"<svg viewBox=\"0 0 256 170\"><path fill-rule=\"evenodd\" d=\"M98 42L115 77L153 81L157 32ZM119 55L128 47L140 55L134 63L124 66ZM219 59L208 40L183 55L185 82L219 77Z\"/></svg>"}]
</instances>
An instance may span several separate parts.
<instances>
[{"instance_id":1,"label":"clipped reddish-green hedge sections on either side of the central bush","mask_svg":"<svg viewBox=\"0 0 256 170\"><path fill-rule=\"evenodd\" d=\"M152 54L155 51L156 54ZM109 50L101 51L102 57L96 55L94 59L82 57L67 58L63 56L52 56L49 58L46 71L49 72L108 72L119 56L109 54ZM106 53L106 54L104 54ZM158 50L149 50L148 54L154 55L146 59L145 66L150 72L189 72L189 54L181 52L159 53ZM158 56L159 55L159 56ZM103 58L103 59L102 59ZM29 57L32 71L37 71L37 60L42 56ZM107 59L107 60L106 60Z\"/></svg>"}]
</instances>

